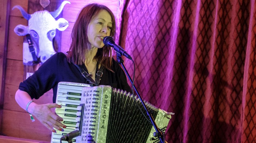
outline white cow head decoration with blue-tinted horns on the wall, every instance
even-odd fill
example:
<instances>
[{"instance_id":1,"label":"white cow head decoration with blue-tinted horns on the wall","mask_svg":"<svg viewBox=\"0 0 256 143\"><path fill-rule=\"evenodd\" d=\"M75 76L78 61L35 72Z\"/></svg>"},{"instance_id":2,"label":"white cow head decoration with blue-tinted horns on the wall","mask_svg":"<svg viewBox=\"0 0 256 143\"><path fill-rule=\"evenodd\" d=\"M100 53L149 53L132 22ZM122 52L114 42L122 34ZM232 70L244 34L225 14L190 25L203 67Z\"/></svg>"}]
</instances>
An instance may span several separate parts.
<instances>
[{"instance_id":1,"label":"white cow head decoration with blue-tinted horns on the wall","mask_svg":"<svg viewBox=\"0 0 256 143\"><path fill-rule=\"evenodd\" d=\"M23 17L28 20L28 26L17 25L14 28L14 32L19 36L30 34L34 44L35 55L37 58L40 58L42 63L56 53L52 42L55 37L56 28L60 31L64 31L69 26L68 21L64 18L59 18L57 21L55 20L67 3L70 4L69 1L63 1L60 7L53 12L44 10L37 11L33 14L26 13L21 6L13 7L13 9L18 8ZM29 66L35 65L27 40L23 41L23 64Z\"/></svg>"}]
</instances>

